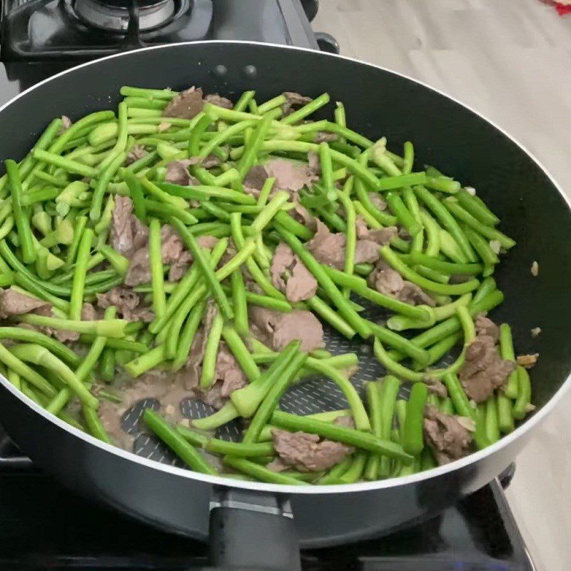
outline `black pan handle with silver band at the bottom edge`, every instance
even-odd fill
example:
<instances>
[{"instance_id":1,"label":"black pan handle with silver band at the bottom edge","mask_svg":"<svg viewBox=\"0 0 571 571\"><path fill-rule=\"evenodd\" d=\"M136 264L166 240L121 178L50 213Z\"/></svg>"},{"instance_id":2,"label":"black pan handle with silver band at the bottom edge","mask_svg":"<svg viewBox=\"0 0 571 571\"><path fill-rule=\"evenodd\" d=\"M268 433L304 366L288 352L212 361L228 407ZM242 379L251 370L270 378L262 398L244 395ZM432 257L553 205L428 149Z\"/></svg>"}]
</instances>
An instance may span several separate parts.
<instances>
[{"instance_id":1,"label":"black pan handle with silver band at the bottom edge","mask_svg":"<svg viewBox=\"0 0 571 571\"><path fill-rule=\"evenodd\" d=\"M219 487L210 504L210 563L223 569L299 571L287 497Z\"/></svg>"}]
</instances>

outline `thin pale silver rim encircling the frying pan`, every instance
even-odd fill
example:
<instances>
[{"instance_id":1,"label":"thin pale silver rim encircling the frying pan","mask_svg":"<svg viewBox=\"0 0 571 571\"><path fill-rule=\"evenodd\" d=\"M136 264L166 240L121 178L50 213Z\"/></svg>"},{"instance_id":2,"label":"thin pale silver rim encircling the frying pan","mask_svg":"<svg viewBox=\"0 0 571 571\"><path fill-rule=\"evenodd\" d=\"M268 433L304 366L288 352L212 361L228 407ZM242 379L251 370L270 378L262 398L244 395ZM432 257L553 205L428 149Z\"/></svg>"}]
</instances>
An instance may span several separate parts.
<instances>
[{"instance_id":1,"label":"thin pale silver rim encircling the frying pan","mask_svg":"<svg viewBox=\"0 0 571 571\"><path fill-rule=\"evenodd\" d=\"M141 52L161 50L161 49L171 49L171 48L174 48L177 46L192 46L195 44L199 44L199 45L203 45L203 44L215 44L215 45L216 44L219 44L219 45L246 44L246 45L252 45L252 46L262 46L262 47L268 46L268 47L279 48L279 49L287 49L287 50L291 50L291 51L299 51L299 52L309 53L309 54L318 53L325 58L330 57L333 59L341 59L341 60L345 60L345 61L352 61L356 64L361 64L361 65L368 66L371 68L380 69L381 71L385 71L385 72L388 72L390 74L400 76L403 79L408 79L409 81L413 81L415 84L419 84L420 86L423 86L425 89L429 89L430 91L433 91L440 96L448 98L450 101L453 101L454 103L457 103L458 105L467 109L471 113L474 113L476 116L482 118L489 125L491 125L497 131L502 133L502 135L505 136L506 138L508 138L510 141L512 141L512 143L515 143L515 145L518 146L528 157L530 157L532 159L532 161L534 161L535 164L540 167L540 169L543 171L543 173L545 173L545 176L547 176L547 178L550 180L550 182L555 187L557 192L560 193L560 196L563 198L563 201L565 201L565 203L567 204L567 208L569 208L569 210L571 211L571 198L566 196L566 194L562 191L560 184L557 183L557 181L555 181L555 178L553 178L553 176L550 174L550 172L547 171L547 168L545 168L545 166L542 164L542 162L539 161L537 159L537 157L535 157L535 155L533 153L531 153L524 145L522 145L522 143L520 143L519 141L517 141L517 139L515 139L513 136L511 136L510 133L507 133L502 127L497 125L494 121L491 121L485 115L482 115L482 113L480 113L479 111L475 111L475 109L473 109L472 107L470 107L466 103L463 103L463 101L458 101L457 98L450 96L449 94L445 93L445 91L442 91L442 90L437 89L433 86L430 86L430 84L427 84L424 81L420 81L420 80L415 79L411 76L400 73L400 71L395 71L394 69L390 69L390 68L385 67L385 66L378 66L375 64L370 64L367 61L363 61L363 60L357 59L357 58L351 58L348 56L341 56L338 54L329 54L326 52L320 52L320 51L316 51L314 49L302 48L302 47L298 47L298 46L285 46L282 44L271 44L271 43L267 43L267 42L243 41L243 40L181 41L181 42L176 42L174 44L163 44L161 46L149 46L146 48L121 52L118 54L111 54L110 56L105 56L103 58L96 59L94 61L87 61L84 64L79 64L78 66L74 66L71 69L66 69L64 71L60 71L58 74L55 74L54 76L50 76L49 78L46 78L46 79L40 81L38 84L35 84L34 86L31 86L28 89L22 91L21 94L14 96L9 101L4 103L4 105L0 106L0 113L2 111L4 111L5 108L11 106L11 104L13 104L19 98L26 96L26 94L33 91L34 89L39 89L41 86L48 83L49 81L54 81L54 79L59 78L60 76L70 74L71 72L75 71L76 69L81 69L81 68L84 68L86 66L94 66L101 61L106 61L109 59L133 56L133 54L138 54ZM188 480L198 480L201 482L206 482L206 483L211 484L211 485L218 485L218 486L221 485L224 487L232 487L232 488L246 489L246 490L256 490L256 491L268 492L268 493L300 494L300 495L328 495L328 494L339 494L342 492L343 493L345 493L345 492L353 492L353 493L355 493L355 492L367 492L367 491L374 491L374 490L389 489L389 488L393 488L393 487L400 487L400 486L415 484L417 482L422 482L424 480L430 480L433 477L434 478L435 477L441 477L441 476L447 475L449 473L453 473L456 470L463 470L464 468L468 468L468 466L477 463L478 460L483 460L484 458L487 458L487 456L491 456L491 455L495 454L501 448L504 448L507 445L515 443L517 440L520 440L520 438L522 438L522 436L525 435L529 430L531 430L533 427L535 427L540 422L542 422L542 420L544 420L547 417L547 415L552 412L553 408L555 408L555 406L559 403L559 401L562 399L563 395L565 395L565 393L568 390L570 390L570 388L571 388L571 371L570 371L570 374L567 375L567 378L562 383L562 385L557 390L557 392L554 395L552 395L550 400L548 400L547 403L544 406L542 406L542 408L537 410L537 412L532 416L532 418L530 418L529 420L526 420L524 423L522 423L522 425L518 426L512 433L503 436L500 440L497 441L497 443L494 443L494 444L488 446L484 450L478 450L477 452L472 453L472 454L466 456L465 458L460 458L460 460L455 460L452 463L445 464L442 466L438 466L436 468L426 470L425 472L416 473L413 475L402 476L402 477L393 477L393 478L389 478L388 480L375 480L374 482L360 482L360 483L356 483L356 484L328 485L328 486L304 486L304 485L295 485L294 486L294 485L283 485L283 484L268 484L266 482L241 482L238 480L232 480L231 478L228 478L228 477L211 476L211 475L201 474L198 472L193 472L192 470L188 470L187 468L176 468L172 465L163 464L163 463L160 463L156 460L149 460L148 458L143 458L142 456L138 456L133 452L128 452L127 450L122 450L121 448L118 448L114 445L103 443L101 440L98 440L98 439L94 438L93 436L91 436L87 433L84 433L83 431L81 431L77 428L74 428L73 426L65 423L63 420L60 420L59 418L57 418L55 415L48 413L46 410L44 410L44 408L42 408L38 404L34 403L33 400L31 400L26 395L24 395L19 390L17 390L14 387L14 385L9 383L9 381L6 378L4 378L3 375L0 375L0 383L2 385L4 385L4 388L6 388L6 390L9 390L9 392L12 393L12 395L14 395L16 398L19 398L19 400L21 400L23 403L28 405L29 408L34 410L35 413L41 415L45 420L48 420L49 422L54 423L55 425L57 425L62 430L66 430L68 433L71 433L71 435L76 436L76 438L81 438L81 440L84 440L86 443L94 445L98 448L101 448L101 450L104 450L108 453L116 455L116 456L118 456L124 460L129 460L131 462L135 462L135 463L138 463L140 465L146 466L146 468L152 468L154 470L160 470L162 472L168 473L168 474L173 475L173 476L184 477Z\"/></svg>"}]
</instances>

